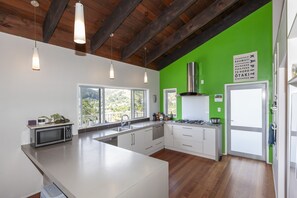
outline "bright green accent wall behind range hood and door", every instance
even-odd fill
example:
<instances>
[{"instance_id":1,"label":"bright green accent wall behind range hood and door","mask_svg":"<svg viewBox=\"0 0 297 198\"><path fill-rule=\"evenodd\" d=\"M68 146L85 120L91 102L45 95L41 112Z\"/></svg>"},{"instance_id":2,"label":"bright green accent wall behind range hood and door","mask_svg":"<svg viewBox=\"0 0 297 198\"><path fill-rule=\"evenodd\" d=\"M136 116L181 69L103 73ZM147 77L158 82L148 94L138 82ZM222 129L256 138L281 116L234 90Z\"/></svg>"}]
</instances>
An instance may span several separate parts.
<instances>
[{"instance_id":1,"label":"bright green accent wall behind range hood and door","mask_svg":"<svg viewBox=\"0 0 297 198\"><path fill-rule=\"evenodd\" d=\"M225 152L225 84L233 83L233 56L258 52L258 81L269 81L270 104L272 92L272 3L268 3L245 17L216 37L194 49L160 71L160 95L163 110L163 89L177 88L177 92L187 90L188 62L199 65L201 93L209 95L209 116L219 117L223 123L223 152ZM224 102L215 103L214 94L224 94ZM222 109L217 112L217 108ZM181 118L181 97L177 99L177 118ZM271 121L271 115L269 115ZM269 149L272 161L272 149Z\"/></svg>"}]
</instances>

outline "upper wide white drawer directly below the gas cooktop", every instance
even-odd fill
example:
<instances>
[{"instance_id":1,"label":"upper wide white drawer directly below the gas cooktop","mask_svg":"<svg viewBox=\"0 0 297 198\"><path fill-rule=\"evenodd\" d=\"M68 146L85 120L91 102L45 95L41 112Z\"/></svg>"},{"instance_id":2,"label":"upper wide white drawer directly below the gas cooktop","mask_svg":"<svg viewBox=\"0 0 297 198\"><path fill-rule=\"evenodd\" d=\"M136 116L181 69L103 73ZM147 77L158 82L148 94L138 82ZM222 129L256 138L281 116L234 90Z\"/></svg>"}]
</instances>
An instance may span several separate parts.
<instances>
[{"instance_id":1,"label":"upper wide white drawer directly below the gas cooktop","mask_svg":"<svg viewBox=\"0 0 297 198\"><path fill-rule=\"evenodd\" d=\"M203 129L179 126L173 129L174 139L203 141Z\"/></svg>"}]
</instances>

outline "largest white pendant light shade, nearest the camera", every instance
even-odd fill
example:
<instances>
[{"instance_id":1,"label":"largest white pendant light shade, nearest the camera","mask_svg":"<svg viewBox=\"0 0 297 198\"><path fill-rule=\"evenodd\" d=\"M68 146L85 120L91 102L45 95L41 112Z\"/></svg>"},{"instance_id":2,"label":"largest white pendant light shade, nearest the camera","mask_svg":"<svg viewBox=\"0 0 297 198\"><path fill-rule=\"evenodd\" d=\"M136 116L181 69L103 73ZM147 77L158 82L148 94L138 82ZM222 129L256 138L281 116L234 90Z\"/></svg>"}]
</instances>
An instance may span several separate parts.
<instances>
[{"instance_id":1,"label":"largest white pendant light shade, nearest the camera","mask_svg":"<svg viewBox=\"0 0 297 198\"><path fill-rule=\"evenodd\" d=\"M74 42L78 44L86 43L84 6L80 1L75 4Z\"/></svg>"}]
</instances>

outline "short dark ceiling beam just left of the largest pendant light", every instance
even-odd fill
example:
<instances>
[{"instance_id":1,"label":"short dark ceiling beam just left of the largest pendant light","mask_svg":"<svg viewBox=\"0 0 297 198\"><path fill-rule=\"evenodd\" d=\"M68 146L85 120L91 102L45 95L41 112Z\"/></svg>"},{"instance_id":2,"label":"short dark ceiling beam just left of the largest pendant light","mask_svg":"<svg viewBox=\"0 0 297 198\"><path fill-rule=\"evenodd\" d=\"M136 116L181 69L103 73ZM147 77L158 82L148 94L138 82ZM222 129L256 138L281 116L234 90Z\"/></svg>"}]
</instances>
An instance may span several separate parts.
<instances>
[{"instance_id":1,"label":"short dark ceiling beam just left of the largest pendant light","mask_svg":"<svg viewBox=\"0 0 297 198\"><path fill-rule=\"evenodd\" d=\"M69 0L52 0L43 22L43 41L48 43L51 39Z\"/></svg>"}]
</instances>

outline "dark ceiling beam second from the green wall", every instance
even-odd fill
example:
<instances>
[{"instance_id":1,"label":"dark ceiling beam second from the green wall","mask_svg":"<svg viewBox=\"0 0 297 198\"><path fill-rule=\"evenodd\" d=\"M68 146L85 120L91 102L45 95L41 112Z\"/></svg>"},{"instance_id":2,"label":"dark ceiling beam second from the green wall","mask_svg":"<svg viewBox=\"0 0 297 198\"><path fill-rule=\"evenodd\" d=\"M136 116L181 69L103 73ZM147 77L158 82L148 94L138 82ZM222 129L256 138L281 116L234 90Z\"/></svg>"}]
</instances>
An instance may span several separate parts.
<instances>
[{"instance_id":1,"label":"dark ceiling beam second from the green wall","mask_svg":"<svg viewBox=\"0 0 297 198\"><path fill-rule=\"evenodd\" d=\"M174 34L163 41L159 46L157 46L151 53L147 56L147 64L153 62L162 54L167 52L169 49L177 45L179 42L183 41L185 38L190 36L192 33L197 31L199 28L206 25L212 19L217 17L219 14L224 12L227 8L232 6L239 0L216 0L200 14L196 15L191 21L182 26Z\"/></svg>"}]
</instances>

